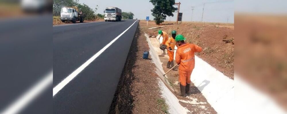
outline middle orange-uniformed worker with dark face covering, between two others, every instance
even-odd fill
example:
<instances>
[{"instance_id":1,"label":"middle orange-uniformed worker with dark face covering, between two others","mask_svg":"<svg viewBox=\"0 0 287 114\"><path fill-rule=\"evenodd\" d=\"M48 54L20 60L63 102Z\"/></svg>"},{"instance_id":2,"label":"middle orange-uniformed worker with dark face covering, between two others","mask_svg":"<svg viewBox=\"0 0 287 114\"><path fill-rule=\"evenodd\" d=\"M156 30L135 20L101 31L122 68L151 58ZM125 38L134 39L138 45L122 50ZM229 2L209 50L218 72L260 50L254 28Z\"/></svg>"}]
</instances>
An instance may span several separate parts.
<instances>
[{"instance_id":1,"label":"middle orange-uniformed worker with dark face covering, between two others","mask_svg":"<svg viewBox=\"0 0 287 114\"><path fill-rule=\"evenodd\" d=\"M173 57L174 57L174 47L175 47L175 36L177 35L177 31L172 30L171 31L171 36L168 38L168 40L165 42L166 48L167 48L167 54L169 56L169 60L166 64L166 68L172 68L174 66L173 63Z\"/></svg>"}]
</instances>

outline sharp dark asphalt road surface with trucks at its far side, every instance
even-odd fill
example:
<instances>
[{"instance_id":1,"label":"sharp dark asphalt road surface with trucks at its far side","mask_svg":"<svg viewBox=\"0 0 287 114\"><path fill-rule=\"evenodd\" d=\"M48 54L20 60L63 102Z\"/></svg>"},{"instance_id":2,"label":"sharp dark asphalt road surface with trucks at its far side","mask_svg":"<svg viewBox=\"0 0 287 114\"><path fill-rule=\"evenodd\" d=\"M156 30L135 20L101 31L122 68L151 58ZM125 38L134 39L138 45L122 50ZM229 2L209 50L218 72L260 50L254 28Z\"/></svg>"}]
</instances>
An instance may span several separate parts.
<instances>
[{"instance_id":1,"label":"sharp dark asphalt road surface with trucks at its far side","mask_svg":"<svg viewBox=\"0 0 287 114\"><path fill-rule=\"evenodd\" d=\"M53 27L53 87L136 20ZM53 97L53 113L108 113L138 21Z\"/></svg>"}]
</instances>

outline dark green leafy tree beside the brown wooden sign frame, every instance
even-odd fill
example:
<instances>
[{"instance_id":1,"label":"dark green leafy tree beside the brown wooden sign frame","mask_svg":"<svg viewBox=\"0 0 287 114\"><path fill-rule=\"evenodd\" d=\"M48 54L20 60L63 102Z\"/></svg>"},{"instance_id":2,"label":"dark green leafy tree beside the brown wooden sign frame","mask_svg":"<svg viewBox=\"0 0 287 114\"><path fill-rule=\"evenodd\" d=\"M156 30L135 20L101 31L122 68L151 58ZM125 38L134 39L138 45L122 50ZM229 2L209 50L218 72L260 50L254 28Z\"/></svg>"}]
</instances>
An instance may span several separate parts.
<instances>
[{"instance_id":1,"label":"dark green leafy tree beside the brown wooden sign frame","mask_svg":"<svg viewBox=\"0 0 287 114\"><path fill-rule=\"evenodd\" d=\"M164 22L166 16L172 16L173 12L177 10L176 7L173 7L175 0L150 0L154 9L152 11L152 16L154 16L154 21L156 24Z\"/></svg>"}]
</instances>

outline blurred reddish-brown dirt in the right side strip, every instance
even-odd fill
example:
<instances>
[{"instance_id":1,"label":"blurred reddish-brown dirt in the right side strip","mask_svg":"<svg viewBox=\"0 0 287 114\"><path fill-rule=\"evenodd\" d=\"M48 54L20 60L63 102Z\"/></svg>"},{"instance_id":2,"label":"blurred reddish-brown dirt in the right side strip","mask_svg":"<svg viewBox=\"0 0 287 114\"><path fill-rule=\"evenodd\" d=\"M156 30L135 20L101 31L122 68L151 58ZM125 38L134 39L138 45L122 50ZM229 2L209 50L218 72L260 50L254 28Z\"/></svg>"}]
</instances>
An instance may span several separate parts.
<instances>
[{"instance_id":1,"label":"blurred reddish-brown dirt in the right side strip","mask_svg":"<svg viewBox=\"0 0 287 114\"><path fill-rule=\"evenodd\" d=\"M287 17L236 15L236 73L287 110Z\"/></svg>"}]
</instances>

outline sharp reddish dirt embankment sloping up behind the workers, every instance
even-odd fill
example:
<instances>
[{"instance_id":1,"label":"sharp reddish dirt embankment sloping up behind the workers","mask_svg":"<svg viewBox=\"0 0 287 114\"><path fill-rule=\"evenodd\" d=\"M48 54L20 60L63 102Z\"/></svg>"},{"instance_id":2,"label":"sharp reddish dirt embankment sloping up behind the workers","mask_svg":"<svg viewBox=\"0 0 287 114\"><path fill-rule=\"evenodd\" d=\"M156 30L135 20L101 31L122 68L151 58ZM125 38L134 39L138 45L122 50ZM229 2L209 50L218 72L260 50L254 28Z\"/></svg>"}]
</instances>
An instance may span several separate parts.
<instances>
[{"instance_id":1,"label":"sharp reddish dirt embankment sloping up behind the workers","mask_svg":"<svg viewBox=\"0 0 287 114\"><path fill-rule=\"evenodd\" d=\"M166 31L169 36L171 36L172 30L176 30L177 34L183 34L187 38L186 42L202 47L203 51L196 53L197 56L224 75L234 79L234 44L232 44L234 41L234 24L183 22L177 25L174 22L166 23L155 25L153 21L150 21L146 26L146 21L141 21L142 28L150 35L156 36L158 30ZM164 27L148 29L158 26ZM226 43L222 40L231 42Z\"/></svg>"}]
</instances>

